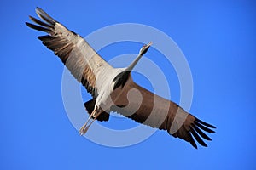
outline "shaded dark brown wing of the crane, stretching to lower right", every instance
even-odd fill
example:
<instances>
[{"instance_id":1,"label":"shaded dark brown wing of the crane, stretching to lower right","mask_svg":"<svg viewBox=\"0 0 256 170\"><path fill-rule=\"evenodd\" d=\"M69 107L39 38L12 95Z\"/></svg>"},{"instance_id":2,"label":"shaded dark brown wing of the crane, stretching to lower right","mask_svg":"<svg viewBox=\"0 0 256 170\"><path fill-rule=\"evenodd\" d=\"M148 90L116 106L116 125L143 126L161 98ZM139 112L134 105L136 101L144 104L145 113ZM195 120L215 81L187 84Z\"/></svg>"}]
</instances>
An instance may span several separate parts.
<instances>
[{"instance_id":1,"label":"shaded dark brown wing of the crane, stretching to lower right","mask_svg":"<svg viewBox=\"0 0 256 170\"><path fill-rule=\"evenodd\" d=\"M149 92L130 80L125 84L124 93L113 94L112 111L129 117L150 127L166 130L174 137L184 139L195 148L195 140L207 147L201 139L211 140L207 133L214 133L212 125L202 122L195 116L184 111L170 100ZM195 140L194 140L195 139Z\"/></svg>"}]
</instances>

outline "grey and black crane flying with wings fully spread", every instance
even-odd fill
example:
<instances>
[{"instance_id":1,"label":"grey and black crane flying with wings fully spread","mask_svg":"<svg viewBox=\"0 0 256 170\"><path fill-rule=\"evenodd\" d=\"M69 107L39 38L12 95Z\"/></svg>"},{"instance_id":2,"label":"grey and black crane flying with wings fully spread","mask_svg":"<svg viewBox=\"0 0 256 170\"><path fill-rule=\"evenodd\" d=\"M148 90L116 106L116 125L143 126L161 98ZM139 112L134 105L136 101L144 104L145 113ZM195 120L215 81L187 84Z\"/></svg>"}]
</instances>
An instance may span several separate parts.
<instances>
[{"instance_id":1,"label":"grey and black crane flying with wings fully spread","mask_svg":"<svg viewBox=\"0 0 256 170\"><path fill-rule=\"evenodd\" d=\"M195 148L195 140L207 147L203 139L211 139L205 132L214 133L214 126L133 82L131 71L143 54L147 53L152 42L143 45L131 65L113 68L83 37L68 30L43 9L36 8L36 13L41 20L29 16L35 24L26 22L26 25L47 33L38 39L61 59L73 77L91 94L92 99L84 103L90 116L79 130L81 135L87 132L95 120L108 121L109 113L116 111L136 122L166 130L173 137L184 139Z\"/></svg>"}]
</instances>

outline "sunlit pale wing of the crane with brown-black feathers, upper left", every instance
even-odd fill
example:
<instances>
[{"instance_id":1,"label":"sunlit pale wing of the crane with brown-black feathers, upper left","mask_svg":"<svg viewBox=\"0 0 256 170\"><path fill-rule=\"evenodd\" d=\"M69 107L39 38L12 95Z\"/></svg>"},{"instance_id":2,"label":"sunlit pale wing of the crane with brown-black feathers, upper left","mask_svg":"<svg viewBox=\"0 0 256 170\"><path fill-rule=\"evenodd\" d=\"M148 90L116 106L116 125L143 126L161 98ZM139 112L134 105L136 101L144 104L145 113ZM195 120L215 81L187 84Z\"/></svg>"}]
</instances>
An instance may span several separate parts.
<instances>
[{"instance_id":1,"label":"sunlit pale wing of the crane with brown-black feathers, upper left","mask_svg":"<svg viewBox=\"0 0 256 170\"><path fill-rule=\"evenodd\" d=\"M111 65L102 59L82 37L54 20L43 9L36 8L36 13L43 20L29 16L38 25L27 23L26 25L38 31L47 32L48 35L40 36L43 44L58 55L73 76L81 82L87 91L97 96L96 77L99 79L113 69Z\"/></svg>"}]
</instances>

